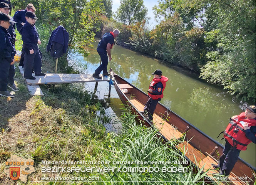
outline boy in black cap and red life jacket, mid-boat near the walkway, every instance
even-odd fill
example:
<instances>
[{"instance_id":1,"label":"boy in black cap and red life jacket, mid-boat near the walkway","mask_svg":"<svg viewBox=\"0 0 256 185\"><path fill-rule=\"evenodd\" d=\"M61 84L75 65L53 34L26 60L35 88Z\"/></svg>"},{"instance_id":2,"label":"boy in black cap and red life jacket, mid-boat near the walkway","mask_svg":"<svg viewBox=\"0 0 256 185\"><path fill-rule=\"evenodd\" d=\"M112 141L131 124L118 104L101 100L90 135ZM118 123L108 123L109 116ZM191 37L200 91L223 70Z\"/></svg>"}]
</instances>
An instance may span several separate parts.
<instances>
[{"instance_id":1,"label":"boy in black cap and red life jacket, mid-boat near the walkway","mask_svg":"<svg viewBox=\"0 0 256 185\"><path fill-rule=\"evenodd\" d=\"M149 99L144 107L144 114L147 114L150 121L153 120L153 114L156 109L157 102L161 101L161 99L164 97L163 92L168 78L162 76L162 74L163 73L160 69L157 69L154 73L152 73L152 75L154 75L154 79L149 85Z\"/></svg>"}]
</instances>

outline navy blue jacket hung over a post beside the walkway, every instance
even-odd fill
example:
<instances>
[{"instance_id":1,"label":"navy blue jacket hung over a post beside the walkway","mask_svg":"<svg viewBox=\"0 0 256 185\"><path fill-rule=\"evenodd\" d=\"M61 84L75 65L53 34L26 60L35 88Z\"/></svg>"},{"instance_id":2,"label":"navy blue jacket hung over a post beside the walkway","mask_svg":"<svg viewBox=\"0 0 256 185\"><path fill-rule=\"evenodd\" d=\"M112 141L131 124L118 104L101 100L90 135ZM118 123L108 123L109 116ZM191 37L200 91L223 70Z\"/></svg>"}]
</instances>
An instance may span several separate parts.
<instances>
[{"instance_id":1,"label":"navy blue jacket hung over a post beside the walkway","mask_svg":"<svg viewBox=\"0 0 256 185\"><path fill-rule=\"evenodd\" d=\"M64 46L63 53L67 52L67 47L69 44L69 33L63 26L58 26L52 31L52 35L50 36L46 51L49 52L52 48L53 42L57 42Z\"/></svg>"}]
</instances>

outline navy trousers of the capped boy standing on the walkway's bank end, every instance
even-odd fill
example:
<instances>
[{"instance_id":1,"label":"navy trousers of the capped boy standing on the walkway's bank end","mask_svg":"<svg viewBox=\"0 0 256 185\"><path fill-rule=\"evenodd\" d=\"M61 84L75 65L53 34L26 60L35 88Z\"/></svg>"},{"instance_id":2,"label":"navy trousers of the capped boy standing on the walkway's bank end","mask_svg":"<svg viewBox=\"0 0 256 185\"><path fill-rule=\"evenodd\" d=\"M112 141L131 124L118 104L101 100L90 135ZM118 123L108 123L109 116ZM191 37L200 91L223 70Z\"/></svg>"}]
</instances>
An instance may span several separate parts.
<instances>
[{"instance_id":1,"label":"navy trousers of the capped boy standing on the walkway's bank end","mask_svg":"<svg viewBox=\"0 0 256 185\"><path fill-rule=\"evenodd\" d=\"M33 46L34 53L24 52L24 76L31 77L32 70L34 69L35 74L41 73L42 58L40 56L40 51L36 46Z\"/></svg>"}]
</instances>

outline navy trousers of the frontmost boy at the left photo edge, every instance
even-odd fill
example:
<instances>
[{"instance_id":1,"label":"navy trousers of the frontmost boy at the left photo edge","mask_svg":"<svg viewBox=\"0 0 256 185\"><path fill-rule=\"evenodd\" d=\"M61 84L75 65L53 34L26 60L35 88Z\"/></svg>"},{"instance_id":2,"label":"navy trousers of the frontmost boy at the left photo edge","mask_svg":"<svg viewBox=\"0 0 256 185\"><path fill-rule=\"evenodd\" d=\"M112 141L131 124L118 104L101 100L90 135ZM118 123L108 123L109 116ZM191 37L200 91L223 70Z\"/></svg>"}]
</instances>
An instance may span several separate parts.
<instances>
[{"instance_id":1,"label":"navy trousers of the frontmost boy at the left photo edge","mask_svg":"<svg viewBox=\"0 0 256 185\"><path fill-rule=\"evenodd\" d=\"M14 75L14 64L10 65L10 61L2 59L0 61L0 91L7 91L7 84L14 83Z\"/></svg>"}]
</instances>

